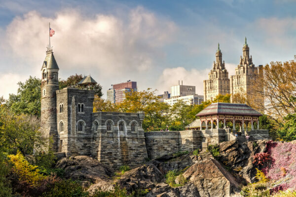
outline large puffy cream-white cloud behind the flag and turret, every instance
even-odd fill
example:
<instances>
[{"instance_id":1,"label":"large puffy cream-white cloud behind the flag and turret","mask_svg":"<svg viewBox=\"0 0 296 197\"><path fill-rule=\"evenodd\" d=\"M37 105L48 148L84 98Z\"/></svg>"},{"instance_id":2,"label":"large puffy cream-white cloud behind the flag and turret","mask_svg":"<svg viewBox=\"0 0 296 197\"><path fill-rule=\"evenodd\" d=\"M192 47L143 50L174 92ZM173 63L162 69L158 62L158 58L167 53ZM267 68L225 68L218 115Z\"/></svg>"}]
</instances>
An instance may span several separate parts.
<instances>
[{"instance_id":1,"label":"large puffy cream-white cloud behind the flag and turret","mask_svg":"<svg viewBox=\"0 0 296 197\"><path fill-rule=\"evenodd\" d=\"M64 9L48 18L30 11L7 26L2 50L11 54L6 59L17 62L10 64L20 75L40 76L49 21L55 30L51 45L62 79L91 73L104 92L110 84L127 79L145 81L143 77L165 57L162 47L174 40L178 28L141 6L121 15L86 17L76 9Z\"/></svg>"}]
</instances>

